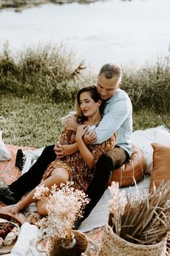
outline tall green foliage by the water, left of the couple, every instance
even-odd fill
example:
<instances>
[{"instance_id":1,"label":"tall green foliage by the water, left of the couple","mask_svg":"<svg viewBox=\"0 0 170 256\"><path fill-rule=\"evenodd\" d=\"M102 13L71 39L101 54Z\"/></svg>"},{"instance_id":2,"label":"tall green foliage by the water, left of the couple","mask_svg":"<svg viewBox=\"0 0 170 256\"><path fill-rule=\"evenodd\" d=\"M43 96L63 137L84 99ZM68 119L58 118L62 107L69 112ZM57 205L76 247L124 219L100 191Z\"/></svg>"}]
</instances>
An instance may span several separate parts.
<instances>
[{"instance_id":1,"label":"tall green foliage by the water, left of the couple","mask_svg":"<svg viewBox=\"0 0 170 256\"><path fill-rule=\"evenodd\" d=\"M84 67L80 63L74 68L73 54L66 53L62 46L27 49L18 54L17 60L11 55L5 44L0 55L1 94L9 92L20 97L33 94L47 102L71 100L72 94L75 95L75 88L68 85Z\"/></svg>"}]
</instances>

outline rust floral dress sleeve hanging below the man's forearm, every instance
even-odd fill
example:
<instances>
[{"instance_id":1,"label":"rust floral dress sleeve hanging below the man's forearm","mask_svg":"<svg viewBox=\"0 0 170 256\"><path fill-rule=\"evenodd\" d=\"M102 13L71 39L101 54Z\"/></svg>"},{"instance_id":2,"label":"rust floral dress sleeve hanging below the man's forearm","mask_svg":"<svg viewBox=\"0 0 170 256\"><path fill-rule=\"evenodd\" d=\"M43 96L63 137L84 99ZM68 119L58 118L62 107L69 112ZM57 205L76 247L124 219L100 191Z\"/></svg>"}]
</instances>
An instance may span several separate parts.
<instances>
[{"instance_id":1,"label":"rust floral dress sleeve hanging below the man's forearm","mask_svg":"<svg viewBox=\"0 0 170 256\"><path fill-rule=\"evenodd\" d=\"M94 157L95 165L102 154L105 154L111 149L114 149L115 144L116 144L116 133L114 133L114 135L112 135L111 138L108 139L107 141L104 141L103 143L97 144L93 147L92 154Z\"/></svg>"}]
</instances>

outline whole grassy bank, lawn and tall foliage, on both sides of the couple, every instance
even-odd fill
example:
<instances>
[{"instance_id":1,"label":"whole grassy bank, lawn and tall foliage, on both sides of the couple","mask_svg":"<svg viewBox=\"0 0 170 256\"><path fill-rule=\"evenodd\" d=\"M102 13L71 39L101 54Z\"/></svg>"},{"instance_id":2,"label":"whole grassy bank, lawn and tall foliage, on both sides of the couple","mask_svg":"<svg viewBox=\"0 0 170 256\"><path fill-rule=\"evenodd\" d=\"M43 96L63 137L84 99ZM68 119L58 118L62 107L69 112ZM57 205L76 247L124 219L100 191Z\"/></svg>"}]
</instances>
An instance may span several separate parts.
<instances>
[{"instance_id":1,"label":"whole grassy bank, lawn and tall foliage, on both sides of the couple","mask_svg":"<svg viewBox=\"0 0 170 256\"><path fill-rule=\"evenodd\" d=\"M55 143L60 117L74 109L81 86L95 84L93 74L61 47L0 54L0 128L7 144L41 147ZM165 124L170 128L169 58L140 70L124 70L122 88L134 108L134 130Z\"/></svg>"}]
</instances>

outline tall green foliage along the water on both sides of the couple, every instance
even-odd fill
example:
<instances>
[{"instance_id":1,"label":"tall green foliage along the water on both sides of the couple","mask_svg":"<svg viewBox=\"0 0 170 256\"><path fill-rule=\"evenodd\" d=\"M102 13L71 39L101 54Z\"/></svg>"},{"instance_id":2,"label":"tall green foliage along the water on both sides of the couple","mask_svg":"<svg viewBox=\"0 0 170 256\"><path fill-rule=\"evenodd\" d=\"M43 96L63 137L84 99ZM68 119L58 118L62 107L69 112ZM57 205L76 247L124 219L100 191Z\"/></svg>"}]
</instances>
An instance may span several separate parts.
<instances>
[{"instance_id":1,"label":"tall green foliage along the water on both sides of the couple","mask_svg":"<svg viewBox=\"0 0 170 256\"><path fill-rule=\"evenodd\" d=\"M82 79L82 62L75 64L72 53L62 46L39 46L12 57L8 44L0 55L0 93L34 96L45 102L74 104L81 86L92 84L93 74ZM170 58L140 70L124 70L122 88L134 110L170 111Z\"/></svg>"}]
</instances>

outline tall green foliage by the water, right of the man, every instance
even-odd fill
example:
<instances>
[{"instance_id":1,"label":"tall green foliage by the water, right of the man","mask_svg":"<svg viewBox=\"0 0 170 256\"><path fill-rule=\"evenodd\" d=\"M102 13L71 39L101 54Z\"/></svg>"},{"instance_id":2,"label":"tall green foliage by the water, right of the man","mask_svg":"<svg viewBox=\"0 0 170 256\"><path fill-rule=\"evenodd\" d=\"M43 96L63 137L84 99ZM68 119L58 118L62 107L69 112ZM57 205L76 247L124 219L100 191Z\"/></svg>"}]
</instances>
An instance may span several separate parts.
<instances>
[{"instance_id":1,"label":"tall green foliage by the water, right of the man","mask_svg":"<svg viewBox=\"0 0 170 256\"><path fill-rule=\"evenodd\" d=\"M129 94L134 110L170 111L170 58L137 71L125 70L122 88Z\"/></svg>"}]
</instances>

